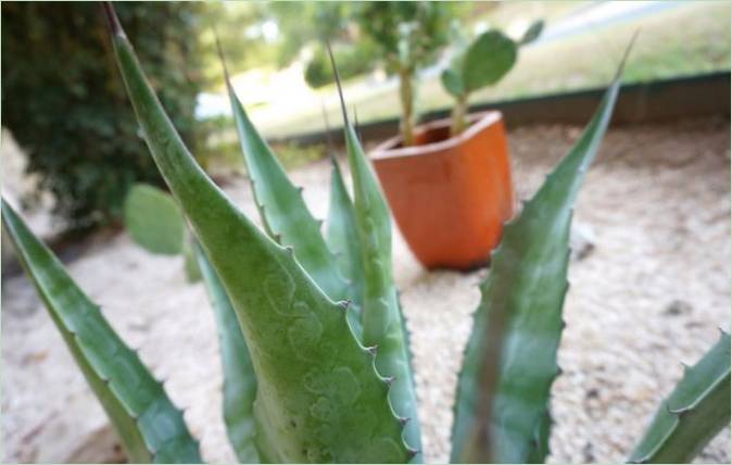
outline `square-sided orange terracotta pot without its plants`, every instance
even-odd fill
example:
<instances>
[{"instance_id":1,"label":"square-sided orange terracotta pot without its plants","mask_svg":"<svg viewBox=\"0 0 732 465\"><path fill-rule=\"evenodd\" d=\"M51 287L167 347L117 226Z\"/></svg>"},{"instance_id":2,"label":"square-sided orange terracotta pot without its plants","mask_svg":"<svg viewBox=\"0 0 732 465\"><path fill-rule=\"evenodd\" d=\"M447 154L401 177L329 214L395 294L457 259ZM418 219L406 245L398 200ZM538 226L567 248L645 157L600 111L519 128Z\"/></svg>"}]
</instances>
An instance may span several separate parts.
<instances>
[{"instance_id":1,"label":"square-sided orange terracotta pot without its plants","mask_svg":"<svg viewBox=\"0 0 732 465\"><path fill-rule=\"evenodd\" d=\"M370 158L396 219L428 268L471 269L488 263L514 213L508 147L500 112L470 115L470 127L450 137L450 120L416 129Z\"/></svg>"}]
</instances>

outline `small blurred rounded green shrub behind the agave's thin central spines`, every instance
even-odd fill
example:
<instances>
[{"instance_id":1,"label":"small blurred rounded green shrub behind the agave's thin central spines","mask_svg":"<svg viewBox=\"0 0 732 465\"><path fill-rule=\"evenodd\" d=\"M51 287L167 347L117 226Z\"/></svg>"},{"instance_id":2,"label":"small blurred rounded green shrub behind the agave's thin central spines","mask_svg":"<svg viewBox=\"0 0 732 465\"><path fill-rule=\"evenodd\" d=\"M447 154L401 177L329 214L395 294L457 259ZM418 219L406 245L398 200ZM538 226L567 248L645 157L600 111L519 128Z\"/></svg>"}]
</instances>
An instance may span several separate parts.
<instances>
[{"instance_id":1,"label":"small blurred rounded green shrub behind the agave's thin central spines","mask_svg":"<svg viewBox=\"0 0 732 465\"><path fill-rule=\"evenodd\" d=\"M373 70L377 59L374 47L339 46L333 48L333 58L338 63L341 79L358 76ZM305 67L305 81L312 88L323 87L333 81L333 72L325 47L315 49L315 53Z\"/></svg>"}]
</instances>

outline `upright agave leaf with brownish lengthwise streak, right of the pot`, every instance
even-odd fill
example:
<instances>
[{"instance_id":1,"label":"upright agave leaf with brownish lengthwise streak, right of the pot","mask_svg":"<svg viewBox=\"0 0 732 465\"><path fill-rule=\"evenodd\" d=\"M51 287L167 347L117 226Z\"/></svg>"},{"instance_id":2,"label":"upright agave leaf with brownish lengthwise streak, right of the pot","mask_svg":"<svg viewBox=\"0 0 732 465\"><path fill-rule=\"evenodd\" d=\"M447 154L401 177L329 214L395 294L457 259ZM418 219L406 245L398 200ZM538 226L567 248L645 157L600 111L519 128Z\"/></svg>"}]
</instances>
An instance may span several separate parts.
<instances>
[{"instance_id":1,"label":"upright agave leaf with brownish lengthwise streak, right of the pot","mask_svg":"<svg viewBox=\"0 0 732 465\"><path fill-rule=\"evenodd\" d=\"M573 204L619 86L620 72L579 141L493 251L458 378L454 463L543 462L548 453Z\"/></svg>"}]
</instances>

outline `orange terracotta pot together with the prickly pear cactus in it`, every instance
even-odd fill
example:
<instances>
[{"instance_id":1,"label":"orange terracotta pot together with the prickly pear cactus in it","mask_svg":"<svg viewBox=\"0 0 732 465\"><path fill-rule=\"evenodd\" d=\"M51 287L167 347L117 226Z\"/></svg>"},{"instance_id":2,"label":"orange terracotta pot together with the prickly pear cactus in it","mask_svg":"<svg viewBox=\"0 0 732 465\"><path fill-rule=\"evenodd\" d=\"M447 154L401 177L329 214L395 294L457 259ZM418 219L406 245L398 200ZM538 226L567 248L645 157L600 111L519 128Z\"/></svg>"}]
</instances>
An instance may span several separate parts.
<instances>
[{"instance_id":1,"label":"orange terracotta pot together with the prickly pear cactus in it","mask_svg":"<svg viewBox=\"0 0 732 465\"><path fill-rule=\"evenodd\" d=\"M389 139L371 153L402 235L428 268L484 265L514 214L503 117L497 111L468 114L468 101L501 80L542 27L533 23L519 40L491 29L463 47L441 75L456 100L452 117L416 127L412 139Z\"/></svg>"}]
</instances>

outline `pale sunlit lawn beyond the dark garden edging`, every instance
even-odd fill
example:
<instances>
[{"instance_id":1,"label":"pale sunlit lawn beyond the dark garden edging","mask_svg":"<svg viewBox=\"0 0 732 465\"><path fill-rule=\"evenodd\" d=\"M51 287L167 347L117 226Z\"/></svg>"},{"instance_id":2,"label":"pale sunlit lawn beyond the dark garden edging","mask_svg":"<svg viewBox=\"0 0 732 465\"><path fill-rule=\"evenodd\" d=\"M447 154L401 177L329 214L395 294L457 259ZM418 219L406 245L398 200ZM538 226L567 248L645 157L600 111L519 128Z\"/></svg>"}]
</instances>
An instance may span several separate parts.
<instances>
[{"instance_id":1,"label":"pale sunlit lawn beyond the dark garden edging","mask_svg":"<svg viewBox=\"0 0 732 465\"><path fill-rule=\"evenodd\" d=\"M566 12L567 2L559 3L565 3L565 10L557 8L547 13ZM516 3L508 5L518 8ZM506 10L489 11L485 17L501 24L510 17L509 13ZM471 102L604 86L611 79L626 46L639 29L640 36L626 68L627 83L730 68L730 4L727 1L696 1L522 49L516 67L497 86L476 92ZM323 97L328 117L335 125L340 122L335 89L325 89ZM357 109L361 122L399 115L394 88L350 93L346 87L345 98L350 106ZM438 77L422 81L418 102L420 111L452 104ZM255 109L252 120L267 137L324 128L319 105L298 108L295 102L293 106ZM231 134L224 139L229 136L236 137Z\"/></svg>"}]
</instances>

